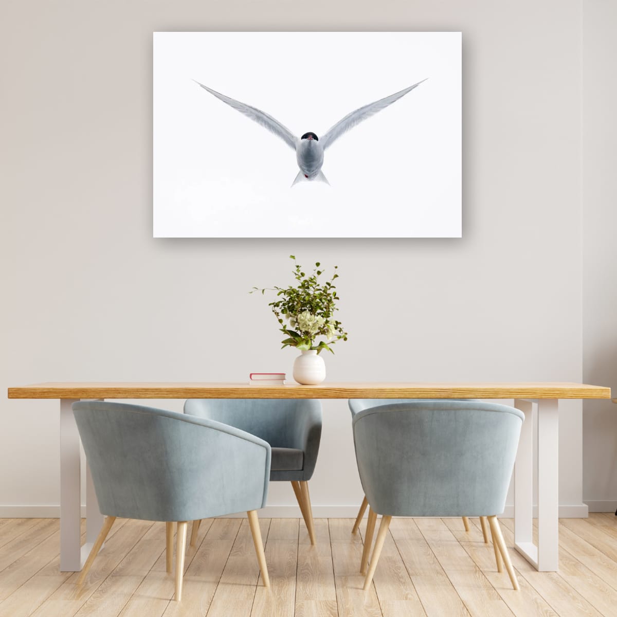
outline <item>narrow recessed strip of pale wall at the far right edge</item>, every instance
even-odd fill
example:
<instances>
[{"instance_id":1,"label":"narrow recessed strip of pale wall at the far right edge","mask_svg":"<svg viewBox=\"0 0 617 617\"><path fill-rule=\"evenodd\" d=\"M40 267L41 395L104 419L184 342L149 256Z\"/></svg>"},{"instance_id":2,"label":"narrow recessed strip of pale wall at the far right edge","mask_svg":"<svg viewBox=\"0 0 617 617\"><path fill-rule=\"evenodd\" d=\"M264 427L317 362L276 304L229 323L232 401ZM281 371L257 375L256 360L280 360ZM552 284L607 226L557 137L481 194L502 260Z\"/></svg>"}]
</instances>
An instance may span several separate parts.
<instances>
[{"instance_id":1,"label":"narrow recessed strip of pale wall at the far right edge","mask_svg":"<svg viewBox=\"0 0 617 617\"><path fill-rule=\"evenodd\" d=\"M584 2L583 377L613 388L617 388L615 24L615 2ZM617 405L586 401L583 418L584 499L592 511L614 511Z\"/></svg>"}]
</instances>

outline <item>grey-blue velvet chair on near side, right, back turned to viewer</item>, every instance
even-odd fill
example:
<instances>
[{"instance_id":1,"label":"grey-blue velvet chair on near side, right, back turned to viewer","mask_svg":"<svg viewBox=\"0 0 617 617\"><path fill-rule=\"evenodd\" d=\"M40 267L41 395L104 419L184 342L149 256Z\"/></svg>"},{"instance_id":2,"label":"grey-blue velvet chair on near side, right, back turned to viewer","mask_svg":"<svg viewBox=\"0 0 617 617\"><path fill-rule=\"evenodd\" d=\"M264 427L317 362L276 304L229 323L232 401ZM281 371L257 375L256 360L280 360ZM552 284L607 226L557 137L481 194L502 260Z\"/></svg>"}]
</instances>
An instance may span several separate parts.
<instances>
[{"instance_id":1,"label":"grey-blue velvet chair on near side, right, back turned to viewer","mask_svg":"<svg viewBox=\"0 0 617 617\"><path fill-rule=\"evenodd\" d=\"M488 516L497 569L502 558L518 589L497 514L505 506L523 419L513 407L460 400L381 405L355 414L360 481L371 510L382 515L365 590L392 516L463 515Z\"/></svg>"}]
</instances>

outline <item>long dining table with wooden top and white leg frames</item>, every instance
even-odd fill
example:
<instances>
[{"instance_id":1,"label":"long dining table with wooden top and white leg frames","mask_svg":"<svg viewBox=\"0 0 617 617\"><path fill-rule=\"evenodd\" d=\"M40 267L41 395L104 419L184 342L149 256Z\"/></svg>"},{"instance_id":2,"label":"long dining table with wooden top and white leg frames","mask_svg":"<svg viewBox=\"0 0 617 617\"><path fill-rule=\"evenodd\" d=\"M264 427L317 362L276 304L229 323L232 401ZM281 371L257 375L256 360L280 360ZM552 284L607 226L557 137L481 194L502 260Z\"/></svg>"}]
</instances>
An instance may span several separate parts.
<instances>
[{"instance_id":1,"label":"long dining table with wooden top and white leg frames","mask_svg":"<svg viewBox=\"0 0 617 617\"><path fill-rule=\"evenodd\" d=\"M60 571L81 569L102 526L86 465L86 543L81 546L80 438L71 405L104 399L514 399L525 416L514 471L515 548L539 571L557 571L560 399L610 399L608 387L579 383L38 383L9 387L9 399L60 401ZM537 408L537 426L532 422ZM533 542L534 432L538 543Z\"/></svg>"}]
</instances>

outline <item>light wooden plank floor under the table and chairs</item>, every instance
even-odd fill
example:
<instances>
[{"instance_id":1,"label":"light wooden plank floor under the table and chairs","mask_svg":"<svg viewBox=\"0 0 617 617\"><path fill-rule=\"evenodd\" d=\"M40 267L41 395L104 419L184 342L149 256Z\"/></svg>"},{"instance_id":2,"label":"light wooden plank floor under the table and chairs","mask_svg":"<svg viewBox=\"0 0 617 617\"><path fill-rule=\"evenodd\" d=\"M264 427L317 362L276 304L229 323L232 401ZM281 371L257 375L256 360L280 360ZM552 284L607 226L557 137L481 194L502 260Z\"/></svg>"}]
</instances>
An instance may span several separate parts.
<instances>
[{"instance_id":1,"label":"light wooden plank floor under the table and chairs","mask_svg":"<svg viewBox=\"0 0 617 617\"><path fill-rule=\"evenodd\" d=\"M560 521L560 571L536 572L512 545L520 591L495 569L478 519L393 519L373 586L358 573L350 519L262 519L271 590L262 586L246 519L204 521L188 550L182 602L170 600L165 524L116 521L85 584L59 571L57 519L0 519L0 617L371 617L617 615L617 517ZM363 525L364 526L364 525ZM189 529L190 532L190 529Z\"/></svg>"}]
</instances>

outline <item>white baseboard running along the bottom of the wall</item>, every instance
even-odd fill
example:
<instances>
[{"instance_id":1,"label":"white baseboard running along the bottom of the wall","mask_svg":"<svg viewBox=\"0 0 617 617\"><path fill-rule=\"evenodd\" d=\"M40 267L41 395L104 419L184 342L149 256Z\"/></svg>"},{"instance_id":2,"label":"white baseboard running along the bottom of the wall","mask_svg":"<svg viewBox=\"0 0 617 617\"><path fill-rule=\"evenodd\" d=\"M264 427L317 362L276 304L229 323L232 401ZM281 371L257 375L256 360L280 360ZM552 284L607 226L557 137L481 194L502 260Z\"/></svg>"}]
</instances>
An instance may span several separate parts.
<instances>
[{"instance_id":1,"label":"white baseboard running along the bottom of the wall","mask_svg":"<svg viewBox=\"0 0 617 617\"><path fill-rule=\"evenodd\" d=\"M587 508L589 504L589 508ZM355 518L358 515L360 503L355 505L313 505L315 518ZM561 518L587 518L589 512L614 512L616 501L592 501L587 503L562 504L559 507ZM259 511L266 518L299 518L300 508L297 505L268 505ZM0 518L58 518L59 505L0 505ZM86 516L85 505L81 506L81 516ZM231 516L246 516L244 513ZM514 516L513 505L506 505L504 518ZM537 516L534 506L534 516Z\"/></svg>"}]
</instances>

